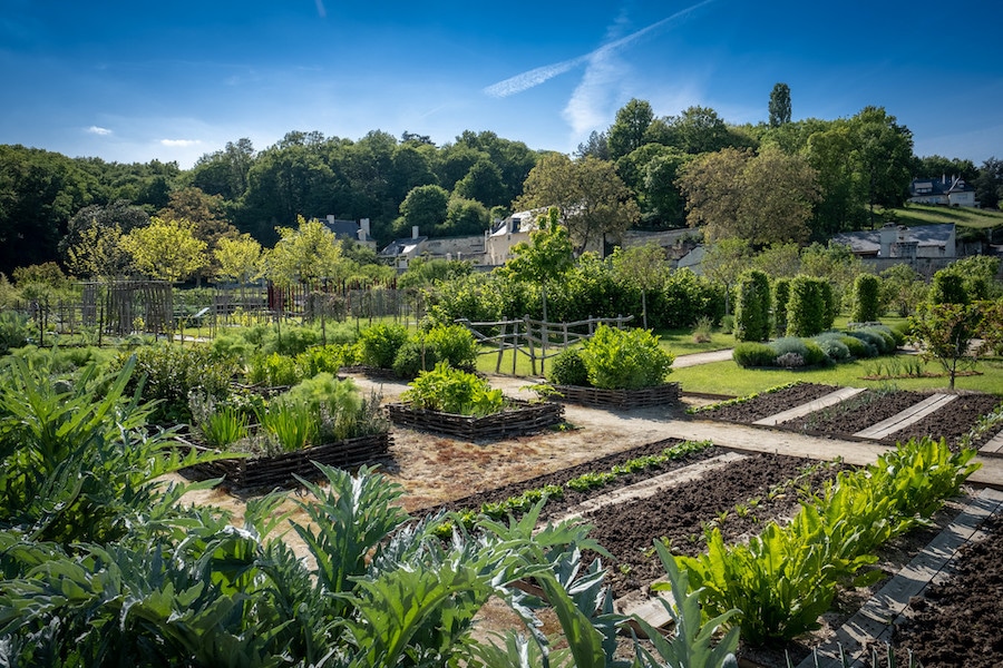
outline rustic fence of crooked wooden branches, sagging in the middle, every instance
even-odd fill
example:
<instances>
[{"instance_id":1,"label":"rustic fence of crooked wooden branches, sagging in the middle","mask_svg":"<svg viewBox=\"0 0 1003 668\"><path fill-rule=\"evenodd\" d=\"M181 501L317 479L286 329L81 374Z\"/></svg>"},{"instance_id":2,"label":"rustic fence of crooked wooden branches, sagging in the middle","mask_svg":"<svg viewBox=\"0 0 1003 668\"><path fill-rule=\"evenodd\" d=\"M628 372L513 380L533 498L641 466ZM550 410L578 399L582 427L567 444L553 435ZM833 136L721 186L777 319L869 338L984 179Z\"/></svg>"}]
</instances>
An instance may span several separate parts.
<instances>
[{"instance_id":1,"label":"rustic fence of crooked wooden branches, sagging in the middle","mask_svg":"<svg viewBox=\"0 0 1003 668\"><path fill-rule=\"evenodd\" d=\"M505 353L510 352L512 375L518 375L519 355L529 358L533 375L537 375L536 363L539 361L539 375L545 375L547 360L559 355L567 346L591 337L601 324L622 330L632 320L633 315L621 315L590 317L573 323L548 323L533 320L527 315L522 320L471 323L466 318L459 318L456 322L467 327L474 334L474 338L489 348L479 354L497 355L495 373L501 373Z\"/></svg>"}]
</instances>

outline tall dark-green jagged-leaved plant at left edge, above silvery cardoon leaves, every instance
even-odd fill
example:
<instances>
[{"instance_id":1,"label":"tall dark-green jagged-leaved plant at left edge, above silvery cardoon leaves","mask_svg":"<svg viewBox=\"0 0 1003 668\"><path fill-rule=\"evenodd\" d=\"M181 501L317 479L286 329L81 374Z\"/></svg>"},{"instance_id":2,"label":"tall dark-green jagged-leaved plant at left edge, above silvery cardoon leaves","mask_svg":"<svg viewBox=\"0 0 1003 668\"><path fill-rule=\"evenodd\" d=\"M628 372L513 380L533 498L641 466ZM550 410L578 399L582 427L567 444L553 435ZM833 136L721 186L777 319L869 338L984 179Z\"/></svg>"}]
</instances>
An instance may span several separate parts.
<instances>
[{"instance_id":1,"label":"tall dark-green jagged-leaved plant at left edge, above silvery cardoon leaves","mask_svg":"<svg viewBox=\"0 0 1003 668\"><path fill-rule=\"evenodd\" d=\"M12 360L0 385L0 528L69 544L116 540L163 494L155 480L195 463L171 433L148 434L153 405L91 365L55 382Z\"/></svg>"}]
</instances>

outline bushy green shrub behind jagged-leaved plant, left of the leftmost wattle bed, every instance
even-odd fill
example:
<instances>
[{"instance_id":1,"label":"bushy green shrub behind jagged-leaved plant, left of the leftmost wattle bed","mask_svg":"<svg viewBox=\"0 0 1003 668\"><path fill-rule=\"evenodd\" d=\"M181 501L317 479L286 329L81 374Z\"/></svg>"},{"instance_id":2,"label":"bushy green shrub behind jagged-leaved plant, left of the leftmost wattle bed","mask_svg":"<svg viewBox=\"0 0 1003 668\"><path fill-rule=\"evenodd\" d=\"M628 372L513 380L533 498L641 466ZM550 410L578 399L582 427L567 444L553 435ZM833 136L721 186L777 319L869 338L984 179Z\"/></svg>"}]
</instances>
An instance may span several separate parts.
<instances>
[{"instance_id":1,"label":"bushy green shrub behind jagged-leaved plant, left of the leftmost wattle bed","mask_svg":"<svg viewBox=\"0 0 1003 668\"><path fill-rule=\"evenodd\" d=\"M142 387L145 400L159 402L150 415L154 422L189 422L192 392L217 400L230 395L233 363L207 346L142 346L132 354L119 355L113 367L124 369L132 356L136 357L136 373L130 376L129 390Z\"/></svg>"}]
</instances>

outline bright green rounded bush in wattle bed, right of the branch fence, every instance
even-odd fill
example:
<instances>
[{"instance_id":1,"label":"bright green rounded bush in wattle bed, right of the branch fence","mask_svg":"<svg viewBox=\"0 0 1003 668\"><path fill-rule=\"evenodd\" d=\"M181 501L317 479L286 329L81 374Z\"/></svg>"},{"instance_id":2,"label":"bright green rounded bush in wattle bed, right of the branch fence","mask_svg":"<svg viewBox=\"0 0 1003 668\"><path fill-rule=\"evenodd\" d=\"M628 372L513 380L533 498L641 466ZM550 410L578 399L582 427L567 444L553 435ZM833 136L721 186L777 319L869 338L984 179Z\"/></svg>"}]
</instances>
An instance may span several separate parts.
<instances>
[{"instance_id":1,"label":"bright green rounded bush in wattle bed, right of the branch fence","mask_svg":"<svg viewBox=\"0 0 1003 668\"><path fill-rule=\"evenodd\" d=\"M616 330L600 325L582 346L588 382L607 390L661 385L675 357L659 345L650 330Z\"/></svg>"}]
</instances>

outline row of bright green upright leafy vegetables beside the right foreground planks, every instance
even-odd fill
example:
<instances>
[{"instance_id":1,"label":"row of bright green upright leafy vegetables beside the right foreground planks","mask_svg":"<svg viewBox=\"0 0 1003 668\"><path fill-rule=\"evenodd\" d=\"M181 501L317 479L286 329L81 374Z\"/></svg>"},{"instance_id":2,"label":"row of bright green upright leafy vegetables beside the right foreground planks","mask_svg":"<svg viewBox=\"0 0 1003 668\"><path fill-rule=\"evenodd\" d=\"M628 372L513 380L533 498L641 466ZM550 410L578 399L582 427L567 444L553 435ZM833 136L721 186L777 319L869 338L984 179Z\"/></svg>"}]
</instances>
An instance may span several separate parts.
<instances>
[{"instance_id":1,"label":"row of bright green upright leafy vegetables beside the right foreground planks","mask_svg":"<svg viewBox=\"0 0 1003 668\"><path fill-rule=\"evenodd\" d=\"M871 552L919 524L957 493L978 464L972 450L945 441L899 444L866 469L843 472L804 503L787 527L770 523L748 543L726 546L713 529L708 552L678 557L691 589L704 588L710 615L738 608L742 638L753 645L788 640L818 628L843 583L860 586L879 570Z\"/></svg>"}]
</instances>

